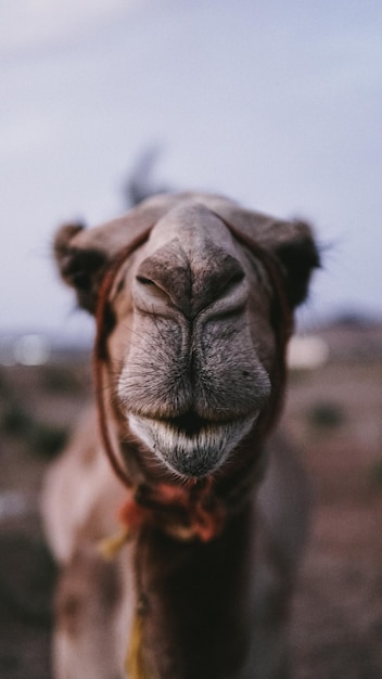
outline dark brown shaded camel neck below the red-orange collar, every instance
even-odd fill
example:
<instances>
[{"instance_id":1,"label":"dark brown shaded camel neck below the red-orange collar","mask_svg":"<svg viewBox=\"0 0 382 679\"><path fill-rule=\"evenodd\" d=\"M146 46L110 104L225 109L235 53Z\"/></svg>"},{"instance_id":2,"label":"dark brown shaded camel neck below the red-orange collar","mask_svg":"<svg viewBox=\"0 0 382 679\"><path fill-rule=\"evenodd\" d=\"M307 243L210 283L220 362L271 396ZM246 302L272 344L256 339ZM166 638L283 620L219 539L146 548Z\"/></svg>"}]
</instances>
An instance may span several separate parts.
<instances>
[{"instance_id":1,"label":"dark brown shaded camel neck below the red-orange collar","mask_svg":"<svg viewBox=\"0 0 382 679\"><path fill-rule=\"evenodd\" d=\"M143 655L155 679L242 676L251 635L254 508L247 501L208 542L153 527L135 540Z\"/></svg>"}]
</instances>

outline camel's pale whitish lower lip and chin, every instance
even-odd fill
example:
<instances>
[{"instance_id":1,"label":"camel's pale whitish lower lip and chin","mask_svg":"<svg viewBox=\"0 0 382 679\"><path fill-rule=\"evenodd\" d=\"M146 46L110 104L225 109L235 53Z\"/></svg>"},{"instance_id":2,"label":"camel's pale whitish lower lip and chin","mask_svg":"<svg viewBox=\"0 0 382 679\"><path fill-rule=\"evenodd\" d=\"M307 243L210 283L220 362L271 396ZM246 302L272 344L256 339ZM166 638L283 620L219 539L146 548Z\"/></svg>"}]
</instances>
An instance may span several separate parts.
<instances>
[{"instance_id":1,"label":"camel's pale whitish lower lip and chin","mask_svg":"<svg viewBox=\"0 0 382 679\"><path fill-rule=\"evenodd\" d=\"M168 419L129 415L132 432L165 465L182 477L201 477L221 466L257 420L212 422L189 412Z\"/></svg>"}]
</instances>

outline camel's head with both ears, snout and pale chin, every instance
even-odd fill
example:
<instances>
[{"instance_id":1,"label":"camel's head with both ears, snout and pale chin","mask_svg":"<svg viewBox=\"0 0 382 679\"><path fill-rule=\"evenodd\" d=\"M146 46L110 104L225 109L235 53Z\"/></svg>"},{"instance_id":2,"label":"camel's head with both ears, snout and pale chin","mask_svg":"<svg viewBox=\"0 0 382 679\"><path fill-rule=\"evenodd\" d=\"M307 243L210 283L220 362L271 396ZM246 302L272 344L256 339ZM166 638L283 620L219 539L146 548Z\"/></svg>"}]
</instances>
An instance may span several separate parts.
<instances>
[{"instance_id":1,"label":"camel's head with both ears, snout and pale chin","mask_svg":"<svg viewBox=\"0 0 382 679\"><path fill-rule=\"evenodd\" d=\"M164 195L96 229L62 227L54 248L79 304L98 308L123 437L188 478L240 454L283 386L278 335L319 265L309 227L213 195Z\"/></svg>"}]
</instances>

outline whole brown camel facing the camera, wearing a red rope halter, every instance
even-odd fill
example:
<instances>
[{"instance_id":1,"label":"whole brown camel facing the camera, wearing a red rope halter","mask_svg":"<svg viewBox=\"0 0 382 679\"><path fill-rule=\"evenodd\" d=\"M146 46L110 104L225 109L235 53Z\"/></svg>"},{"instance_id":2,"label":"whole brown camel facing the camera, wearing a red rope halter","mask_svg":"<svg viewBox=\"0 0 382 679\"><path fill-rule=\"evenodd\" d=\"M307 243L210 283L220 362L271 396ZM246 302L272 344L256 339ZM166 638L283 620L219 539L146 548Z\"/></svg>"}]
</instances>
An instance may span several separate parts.
<instances>
[{"instance_id":1,"label":"whole brown camel facing the camera, wearing a red rope halter","mask_svg":"<svg viewBox=\"0 0 382 679\"><path fill-rule=\"evenodd\" d=\"M54 254L97 325L97 408L42 499L56 679L289 677L310 492L277 422L310 227L166 194Z\"/></svg>"}]
</instances>

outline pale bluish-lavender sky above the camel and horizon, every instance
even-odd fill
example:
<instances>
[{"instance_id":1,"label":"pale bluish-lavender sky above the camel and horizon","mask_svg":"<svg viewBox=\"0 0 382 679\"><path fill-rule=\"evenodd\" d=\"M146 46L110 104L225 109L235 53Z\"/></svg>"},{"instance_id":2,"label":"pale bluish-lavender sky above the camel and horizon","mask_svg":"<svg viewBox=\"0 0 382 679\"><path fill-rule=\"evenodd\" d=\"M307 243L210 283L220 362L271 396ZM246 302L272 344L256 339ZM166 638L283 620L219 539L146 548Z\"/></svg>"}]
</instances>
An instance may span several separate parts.
<instances>
[{"instance_id":1,"label":"pale bluish-lavender sky above the camel and horizon","mask_svg":"<svg viewBox=\"0 0 382 679\"><path fill-rule=\"evenodd\" d=\"M56 227L160 183L315 227L302 319L382 317L379 0L5 0L0 5L0 334L84 338Z\"/></svg>"}]
</instances>

